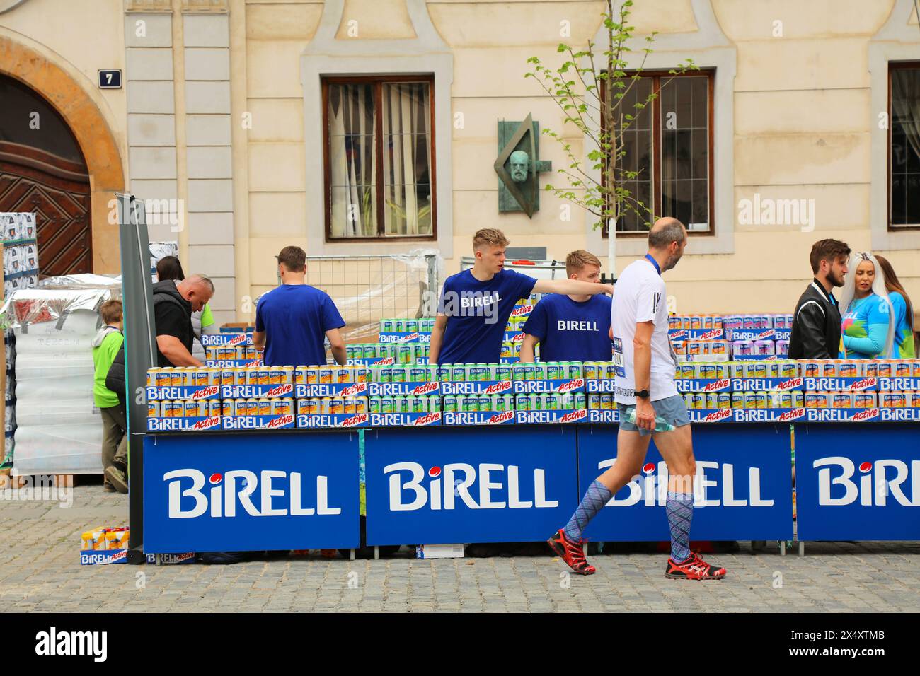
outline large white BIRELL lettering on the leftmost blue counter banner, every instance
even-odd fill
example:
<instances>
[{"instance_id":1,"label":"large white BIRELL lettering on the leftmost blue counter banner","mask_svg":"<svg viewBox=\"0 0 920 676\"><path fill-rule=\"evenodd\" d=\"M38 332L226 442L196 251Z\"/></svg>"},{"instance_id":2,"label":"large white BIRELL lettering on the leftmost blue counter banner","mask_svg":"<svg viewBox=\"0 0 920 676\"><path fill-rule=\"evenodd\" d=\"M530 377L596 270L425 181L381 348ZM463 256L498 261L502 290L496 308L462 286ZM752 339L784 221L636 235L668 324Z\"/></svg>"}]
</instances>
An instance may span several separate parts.
<instances>
[{"instance_id":1,"label":"large white BIRELL lettering on the leftmost blue counter banner","mask_svg":"<svg viewBox=\"0 0 920 676\"><path fill-rule=\"evenodd\" d=\"M249 516L341 513L340 507L329 507L328 476L316 476L316 506L304 505L301 479L298 472L288 475L281 470L262 470L256 475L246 469L236 469L209 476L211 488L205 492L202 490L204 473L197 469L176 469L163 475L163 480L168 482L170 519L195 519L209 510L212 518L232 518L236 516L237 504ZM256 502L254 498L258 498Z\"/></svg>"}]
</instances>

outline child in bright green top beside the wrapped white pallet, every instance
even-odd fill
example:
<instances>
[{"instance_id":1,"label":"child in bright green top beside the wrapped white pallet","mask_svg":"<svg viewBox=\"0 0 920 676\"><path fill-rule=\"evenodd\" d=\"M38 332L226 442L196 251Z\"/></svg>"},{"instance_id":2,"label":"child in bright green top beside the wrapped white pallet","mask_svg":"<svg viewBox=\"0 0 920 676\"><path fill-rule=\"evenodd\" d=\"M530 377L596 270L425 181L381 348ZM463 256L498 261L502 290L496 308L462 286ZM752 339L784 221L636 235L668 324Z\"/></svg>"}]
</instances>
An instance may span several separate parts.
<instances>
[{"instance_id":1,"label":"child in bright green top beside the wrapped white pallet","mask_svg":"<svg viewBox=\"0 0 920 676\"><path fill-rule=\"evenodd\" d=\"M121 349L121 301L106 301L99 307L104 326L93 340L93 402L102 415L102 467L105 486L120 493L128 492L127 416L117 394L106 387L109 367Z\"/></svg>"}]
</instances>

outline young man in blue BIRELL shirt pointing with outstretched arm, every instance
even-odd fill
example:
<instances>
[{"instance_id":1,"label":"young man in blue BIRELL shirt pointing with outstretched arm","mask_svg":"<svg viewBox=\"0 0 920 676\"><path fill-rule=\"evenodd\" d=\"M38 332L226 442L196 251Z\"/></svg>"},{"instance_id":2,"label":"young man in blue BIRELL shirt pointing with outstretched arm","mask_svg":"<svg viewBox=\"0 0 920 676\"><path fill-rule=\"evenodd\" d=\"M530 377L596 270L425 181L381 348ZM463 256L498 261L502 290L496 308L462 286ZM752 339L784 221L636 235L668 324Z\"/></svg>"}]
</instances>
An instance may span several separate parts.
<instances>
[{"instance_id":1,"label":"young man in blue BIRELL shirt pointing with outstretched arm","mask_svg":"<svg viewBox=\"0 0 920 676\"><path fill-rule=\"evenodd\" d=\"M514 304L531 293L578 296L614 292L612 284L535 280L504 269L506 246L508 239L500 230L487 228L473 235L476 256L473 267L444 281L438 315L431 331L429 363L499 361L501 338Z\"/></svg>"}]
</instances>

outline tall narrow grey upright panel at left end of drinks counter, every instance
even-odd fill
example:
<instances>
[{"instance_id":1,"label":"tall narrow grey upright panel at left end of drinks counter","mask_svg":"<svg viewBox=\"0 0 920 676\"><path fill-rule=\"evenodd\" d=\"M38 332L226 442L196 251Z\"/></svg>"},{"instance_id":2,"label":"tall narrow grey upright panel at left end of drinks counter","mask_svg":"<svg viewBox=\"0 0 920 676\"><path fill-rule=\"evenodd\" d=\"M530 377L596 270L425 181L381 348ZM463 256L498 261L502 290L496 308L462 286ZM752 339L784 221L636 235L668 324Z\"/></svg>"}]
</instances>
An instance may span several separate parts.
<instances>
[{"instance_id":1,"label":"tall narrow grey upright panel at left end of drinks counter","mask_svg":"<svg viewBox=\"0 0 920 676\"><path fill-rule=\"evenodd\" d=\"M128 563L144 563L144 434L146 373L156 362L154 303L150 281L150 243L144 204L119 194L121 301L124 314L125 408L128 416L129 462Z\"/></svg>"}]
</instances>

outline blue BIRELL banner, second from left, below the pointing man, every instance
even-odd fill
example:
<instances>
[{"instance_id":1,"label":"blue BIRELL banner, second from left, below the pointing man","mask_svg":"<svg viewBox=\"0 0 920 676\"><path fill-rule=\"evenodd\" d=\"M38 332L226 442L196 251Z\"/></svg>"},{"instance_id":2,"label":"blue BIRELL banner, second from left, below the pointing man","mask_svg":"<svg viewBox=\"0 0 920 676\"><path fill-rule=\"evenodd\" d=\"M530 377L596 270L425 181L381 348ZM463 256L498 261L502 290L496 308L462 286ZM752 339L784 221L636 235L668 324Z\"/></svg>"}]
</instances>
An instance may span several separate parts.
<instances>
[{"instance_id":1,"label":"blue BIRELL banner, second from left, below the pointing man","mask_svg":"<svg viewBox=\"0 0 920 676\"><path fill-rule=\"evenodd\" d=\"M578 504L574 426L369 430L367 544L540 542Z\"/></svg>"}]
</instances>

